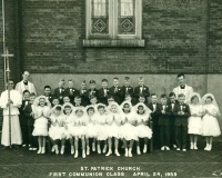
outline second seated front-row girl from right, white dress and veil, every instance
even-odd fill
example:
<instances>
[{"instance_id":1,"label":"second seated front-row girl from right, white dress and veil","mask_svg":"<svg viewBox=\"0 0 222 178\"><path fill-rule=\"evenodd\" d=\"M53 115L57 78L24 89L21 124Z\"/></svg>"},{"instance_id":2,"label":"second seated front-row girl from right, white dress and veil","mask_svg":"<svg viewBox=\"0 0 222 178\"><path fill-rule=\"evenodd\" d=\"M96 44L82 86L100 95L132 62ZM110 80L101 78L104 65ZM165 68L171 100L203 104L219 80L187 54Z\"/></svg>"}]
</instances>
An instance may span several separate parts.
<instances>
[{"instance_id":1,"label":"second seated front-row girl from right, white dress and veil","mask_svg":"<svg viewBox=\"0 0 222 178\"><path fill-rule=\"evenodd\" d=\"M131 101L124 101L121 103L121 126L120 136L123 138L123 145L125 149L125 157L132 157L132 147L134 140L138 140L135 128L135 112L132 110ZM128 149L128 141L130 141L130 148Z\"/></svg>"}]
</instances>

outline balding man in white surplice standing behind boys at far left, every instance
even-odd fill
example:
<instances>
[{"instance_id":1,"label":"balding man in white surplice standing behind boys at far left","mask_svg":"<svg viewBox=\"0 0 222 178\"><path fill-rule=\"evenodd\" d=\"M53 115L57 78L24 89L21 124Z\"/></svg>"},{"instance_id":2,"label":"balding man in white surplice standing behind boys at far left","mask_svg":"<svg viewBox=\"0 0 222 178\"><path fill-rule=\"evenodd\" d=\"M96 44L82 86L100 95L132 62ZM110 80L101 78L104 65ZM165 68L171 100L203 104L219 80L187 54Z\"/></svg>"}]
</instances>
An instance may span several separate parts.
<instances>
[{"instance_id":1,"label":"balding man in white surplice standing behind boys at far left","mask_svg":"<svg viewBox=\"0 0 222 178\"><path fill-rule=\"evenodd\" d=\"M22 80L18 82L16 86L16 90L19 91L21 96L23 96L24 90L29 90L30 93L34 92L37 95L34 85L28 80L29 76L30 76L29 71L24 71L22 73Z\"/></svg>"}]
</instances>

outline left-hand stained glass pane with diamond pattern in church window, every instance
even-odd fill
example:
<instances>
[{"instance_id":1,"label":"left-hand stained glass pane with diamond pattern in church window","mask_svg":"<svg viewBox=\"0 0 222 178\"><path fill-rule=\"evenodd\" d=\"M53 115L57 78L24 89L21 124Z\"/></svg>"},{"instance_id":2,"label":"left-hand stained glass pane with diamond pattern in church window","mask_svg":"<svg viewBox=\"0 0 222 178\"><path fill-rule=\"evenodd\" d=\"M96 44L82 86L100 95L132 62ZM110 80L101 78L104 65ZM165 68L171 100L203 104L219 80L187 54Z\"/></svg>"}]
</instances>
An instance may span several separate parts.
<instances>
[{"instance_id":1,"label":"left-hand stained glass pane with diamond pattern in church window","mask_svg":"<svg viewBox=\"0 0 222 178\"><path fill-rule=\"evenodd\" d=\"M91 33L109 33L108 0L91 0Z\"/></svg>"}]
</instances>

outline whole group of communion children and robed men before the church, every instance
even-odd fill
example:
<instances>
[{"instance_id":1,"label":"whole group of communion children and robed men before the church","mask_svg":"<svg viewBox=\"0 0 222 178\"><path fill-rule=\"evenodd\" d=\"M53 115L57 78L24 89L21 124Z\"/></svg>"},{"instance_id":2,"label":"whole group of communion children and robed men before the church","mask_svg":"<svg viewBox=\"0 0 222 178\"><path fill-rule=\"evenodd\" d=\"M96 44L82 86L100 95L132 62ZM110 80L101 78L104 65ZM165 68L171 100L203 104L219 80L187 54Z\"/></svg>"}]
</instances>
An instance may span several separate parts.
<instances>
[{"instance_id":1,"label":"whole group of communion children and robed men before the church","mask_svg":"<svg viewBox=\"0 0 222 178\"><path fill-rule=\"evenodd\" d=\"M184 73L178 75L179 87L160 96L150 93L143 77L138 78L135 88L131 87L130 77L124 77L122 87L118 77L112 87L102 79L100 89L94 80L82 81L78 87L74 80L62 79L53 90L42 86L44 93L37 96L27 77L28 71L16 89L13 80L9 80L10 98L8 90L0 97L3 149L21 145L44 154L49 137L56 155L69 150L74 158L85 158L94 151L119 157L122 148L125 157L132 157L133 148L137 155L147 154L151 138L154 149L186 151L198 150L198 139L203 136L204 150L210 151L213 137L221 135L221 113L214 96L194 92L184 83Z\"/></svg>"}]
</instances>

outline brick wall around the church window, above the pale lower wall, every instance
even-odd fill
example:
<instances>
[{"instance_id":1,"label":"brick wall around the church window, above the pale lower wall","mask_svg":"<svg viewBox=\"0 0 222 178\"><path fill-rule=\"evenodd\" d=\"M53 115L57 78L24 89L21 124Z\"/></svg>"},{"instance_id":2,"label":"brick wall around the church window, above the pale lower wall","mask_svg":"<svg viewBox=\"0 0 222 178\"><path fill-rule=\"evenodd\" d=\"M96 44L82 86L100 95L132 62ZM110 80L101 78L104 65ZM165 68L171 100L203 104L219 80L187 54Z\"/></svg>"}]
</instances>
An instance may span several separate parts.
<instances>
[{"instance_id":1,"label":"brick wall around the church window, above the pale lower wall","mask_svg":"<svg viewBox=\"0 0 222 178\"><path fill-rule=\"evenodd\" d=\"M206 0L143 0L144 48L83 48L84 0L23 0L23 68L31 72L204 73Z\"/></svg>"}]
</instances>

